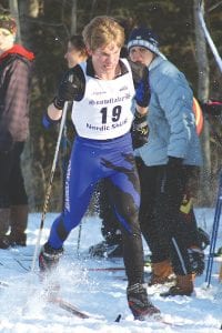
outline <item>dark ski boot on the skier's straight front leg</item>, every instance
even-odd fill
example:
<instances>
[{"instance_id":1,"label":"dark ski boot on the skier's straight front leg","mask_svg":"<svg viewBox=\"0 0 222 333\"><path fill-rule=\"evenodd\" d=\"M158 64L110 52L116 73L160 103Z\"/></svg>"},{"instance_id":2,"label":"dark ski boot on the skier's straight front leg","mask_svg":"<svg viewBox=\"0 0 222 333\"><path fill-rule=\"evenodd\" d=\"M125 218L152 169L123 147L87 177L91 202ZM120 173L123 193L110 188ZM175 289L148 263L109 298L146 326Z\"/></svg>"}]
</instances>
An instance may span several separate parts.
<instances>
[{"instance_id":1,"label":"dark ski boot on the skier's straight front leg","mask_svg":"<svg viewBox=\"0 0 222 333\"><path fill-rule=\"evenodd\" d=\"M160 319L160 310L149 301L147 290L141 283L128 286L127 296L134 320Z\"/></svg>"}]
</instances>

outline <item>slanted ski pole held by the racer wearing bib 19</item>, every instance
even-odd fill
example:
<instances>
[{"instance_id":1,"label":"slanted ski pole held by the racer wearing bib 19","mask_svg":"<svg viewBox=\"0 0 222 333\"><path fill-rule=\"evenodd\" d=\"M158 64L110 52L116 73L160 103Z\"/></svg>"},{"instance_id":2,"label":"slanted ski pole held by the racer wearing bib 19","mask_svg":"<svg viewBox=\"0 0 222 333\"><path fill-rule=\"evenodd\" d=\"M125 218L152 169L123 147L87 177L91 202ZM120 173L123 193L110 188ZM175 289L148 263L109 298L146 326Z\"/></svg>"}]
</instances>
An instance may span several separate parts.
<instances>
[{"instance_id":1,"label":"slanted ski pole held by the racer wearing bib 19","mask_svg":"<svg viewBox=\"0 0 222 333\"><path fill-rule=\"evenodd\" d=\"M51 168L51 172L50 172L49 183L48 183L48 186L47 186L47 192L46 192L46 198L44 198L44 204L43 204L43 210L42 210L42 215L41 215L41 222L40 222L40 226L39 226L39 233L38 233L37 243L36 243L36 248L34 248L34 254L33 254L33 259L32 259L32 264L31 264L31 272L34 271L34 265L36 265L37 255L38 255L38 250L39 250L39 245L40 245L41 233L42 233L42 229L43 229L43 225L44 225L44 219L46 219L46 214L47 214L47 210L48 210L49 199L50 199L50 195L51 195L52 181L53 181L54 171L56 171L56 167L57 167L57 161L58 161L58 155L59 155L59 148L60 148L61 138L62 138L62 132L63 132L63 128L64 128L64 123L65 123L65 119L67 119L68 105L69 105L69 102L65 101L64 108L63 108L63 112L62 112L62 119L61 119L61 123L60 123L60 129L59 129L59 135L58 135L58 140L57 140L57 147L56 147L54 158L53 158L52 168Z\"/></svg>"}]
</instances>

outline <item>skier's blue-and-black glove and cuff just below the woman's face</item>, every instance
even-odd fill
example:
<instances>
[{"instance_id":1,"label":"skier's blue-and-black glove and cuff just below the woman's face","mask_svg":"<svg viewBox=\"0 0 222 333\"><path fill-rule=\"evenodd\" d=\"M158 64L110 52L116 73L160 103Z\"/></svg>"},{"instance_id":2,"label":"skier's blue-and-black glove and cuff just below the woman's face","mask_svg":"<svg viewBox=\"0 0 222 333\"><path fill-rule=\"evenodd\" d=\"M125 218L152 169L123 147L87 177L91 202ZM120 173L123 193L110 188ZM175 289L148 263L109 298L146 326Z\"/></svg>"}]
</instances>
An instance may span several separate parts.
<instances>
[{"instance_id":1,"label":"skier's blue-and-black glove and cuff just below the woman's face","mask_svg":"<svg viewBox=\"0 0 222 333\"><path fill-rule=\"evenodd\" d=\"M147 108L150 102L149 70L147 67L143 68L142 79L135 87L135 101L142 108Z\"/></svg>"}]
</instances>

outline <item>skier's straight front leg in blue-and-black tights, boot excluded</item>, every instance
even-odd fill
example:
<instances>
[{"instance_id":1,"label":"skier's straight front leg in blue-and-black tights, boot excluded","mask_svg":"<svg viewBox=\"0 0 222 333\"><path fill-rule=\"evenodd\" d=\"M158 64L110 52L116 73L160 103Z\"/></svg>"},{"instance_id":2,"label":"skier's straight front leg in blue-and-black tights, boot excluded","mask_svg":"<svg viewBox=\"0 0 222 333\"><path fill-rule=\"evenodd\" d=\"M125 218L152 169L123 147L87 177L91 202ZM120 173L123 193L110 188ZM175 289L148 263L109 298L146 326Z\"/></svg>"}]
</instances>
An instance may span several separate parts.
<instances>
[{"instance_id":1,"label":"skier's straight front leg in blue-and-black tights, boot excluded","mask_svg":"<svg viewBox=\"0 0 222 333\"><path fill-rule=\"evenodd\" d=\"M143 248L138 220L140 206L139 178L131 158L127 173L117 172L111 178L114 210L122 225L123 259L130 284L143 283Z\"/></svg>"}]
</instances>

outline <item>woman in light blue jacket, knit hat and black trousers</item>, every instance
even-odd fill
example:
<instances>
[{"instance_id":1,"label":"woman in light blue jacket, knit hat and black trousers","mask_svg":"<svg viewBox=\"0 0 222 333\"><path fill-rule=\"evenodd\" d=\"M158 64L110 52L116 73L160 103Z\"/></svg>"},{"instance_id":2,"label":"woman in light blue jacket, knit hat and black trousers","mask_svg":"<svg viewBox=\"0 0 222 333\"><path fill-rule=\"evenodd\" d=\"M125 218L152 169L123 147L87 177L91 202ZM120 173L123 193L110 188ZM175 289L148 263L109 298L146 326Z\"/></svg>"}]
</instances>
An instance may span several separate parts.
<instances>
[{"instance_id":1,"label":"woman in light blue jacket, knit hat and black trousers","mask_svg":"<svg viewBox=\"0 0 222 333\"><path fill-rule=\"evenodd\" d=\"M135 155L141 159L140 223L152 253L151 283L168 278L172 264L176 283L164 295L191 295L193 264L198 264L199 274L204 268L203 253L194 244L198 228L188 192L191 176L202 162L193 93L184 74L160 52L149 29L134 29L128 50L130 59L145 64L150 74L149 140ZM182 216L185 209L191 225L189 240Z\"/></svg>"}]
</instances>

